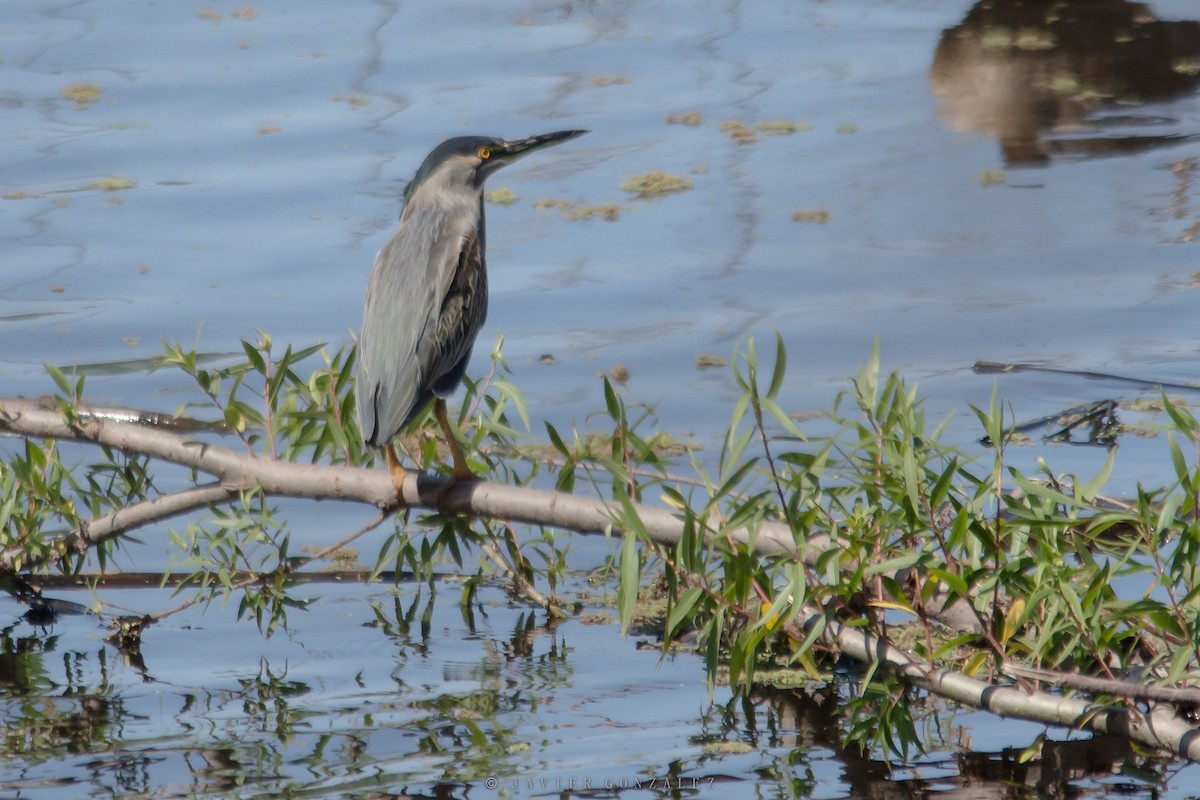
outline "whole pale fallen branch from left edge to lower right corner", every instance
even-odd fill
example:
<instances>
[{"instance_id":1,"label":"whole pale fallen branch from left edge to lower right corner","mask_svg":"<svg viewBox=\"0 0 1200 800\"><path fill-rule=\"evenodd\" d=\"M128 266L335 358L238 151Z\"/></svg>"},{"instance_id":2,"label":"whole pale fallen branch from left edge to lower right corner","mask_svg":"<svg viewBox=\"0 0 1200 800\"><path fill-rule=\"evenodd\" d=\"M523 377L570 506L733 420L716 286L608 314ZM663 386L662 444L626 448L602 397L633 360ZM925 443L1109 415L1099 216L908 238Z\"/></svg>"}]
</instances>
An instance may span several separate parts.
<instances>
[{"instance_id":1,"label":"whole pale fallen branch from left edge to lower right corner","mask_svg":"<svg viewBox=\"0 0 1200 800\"><path fill-rule=\"evenodd\" d=\"M220 444L187 438L190 433L179 428L148 427L98 414L72 425L64 420L58 408L37 401L0 399L0 434L104 445L194 469L215 479L96 517L68 537L67 543L72 547L86 547L214 503L232 500L256 486L280 497L365 503L385 512L397 507L391 476L384 470L258 458ZM484 481L445 488L442 479L410 475L398 499L413 507L564 528L582 534L620 533L618 521L623 518L623 509L616 503ZM683 521L668 509L635 505L634 511L648 536L660 545L673 545L684 535ZM377 518L368 527L379 521ZM827 534L797 536L787 525L769 522L754 530L721 530L720 535L762 554L791 554L809 564L815 564L822 553L838 546L836 540ZM0 570L12 571L16 558L13 551L0 552ZM31 565L26 563L23 566L28 569ZM958 624L952 622L952 626L959 630L978 627L978 615L964 610L961 601L946 604L935 599L924 608L929 615L942 621L958 615ZM805 624L805 620L799 619L797 624ZM832 637L830 644L841 652L866 663L880 662L908 682L962 705L1045 724L1122 735L1184 758L1200 759L1200 729L1190 726L1172 708L1156 706L1147 711L1111 708L990 684L919 662L858 627L834 624L827 633Z\"/></svg>"}]
</instances>

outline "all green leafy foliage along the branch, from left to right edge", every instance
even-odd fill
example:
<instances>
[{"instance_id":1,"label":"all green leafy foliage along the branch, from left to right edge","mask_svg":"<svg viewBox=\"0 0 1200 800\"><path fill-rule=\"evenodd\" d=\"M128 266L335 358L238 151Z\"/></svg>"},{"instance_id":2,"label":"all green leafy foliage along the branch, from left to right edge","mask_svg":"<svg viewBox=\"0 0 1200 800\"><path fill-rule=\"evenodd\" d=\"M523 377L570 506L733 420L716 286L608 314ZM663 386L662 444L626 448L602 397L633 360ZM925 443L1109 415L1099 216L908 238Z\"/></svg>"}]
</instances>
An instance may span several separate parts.
<instances>
[{"instance_id":1,"label":"all green leafy foliage along the branch, from left to right edge","mask_svg":"<svg viewBox=\"0 0 1200 800\"><path fill-rule=\"evenodd\" d=\"M509 381L500 344L491 372L466 381L455 420L472 469L512 486L552 480L559 491L611 500L612 530L622 533L611 575L623 628L644 625L643 600L658 594L664 648L692 643L710 686L728 680L749 691L780 669L827 678L839 655L829 634L847 627L967 674L1019 661L1105 676L1141 669L1166 682L1198 675L1200 422L1165 396L1175 483L1139 488L1130 503L1111 505L1100 492L1112 453L1085 479L1046 467L1024 474L1006 458L1012 414L994 395L973 413L995 446L968 457L941 441L947 421L926 423L914 389L881 374L877 348L812 426L822 433L802 429L786 404L787 356L778 336L766 355L752 341L734 355L740 395L712 456L668 455L654 410L606 379L602 408L587 421L600 432L546 423L546 455L529 457L517 446L529 410ZM353 350L280 353L260 333L223 362L167 344L162 367L198 389L203 399L180 409L205 423L198 438L235 437L258 458L289 462L371 465L378 457L356 427ZM64 421L79 423L84 379L48 372ZM449 473L431 433L402 445L419 469ZM143 455L104 449L79 463L65 450L24 441L0 463L0 548L14 554L14 572L52 563L79 570L88 555L70 547L71 531L161 494L157 465ZM689 475L671 471L680 469L676 457ZM638 516L643 503L677 513L678 539L650 536ZM756 548L768 525L786 530L785 541ZM293 552L277 499L259 487L170 535L172 569L188 576L181 589L193 599L236 600L239 616L266 633L300 607L289 588L308 558ZM439 565L467 569L474 545L496 545L516 577L554 595L569 571L566 541L548 528L518 534L496 521L427 513L397 522L373 566L432 589ZM91 551L101 569L114 542ZM479 566L463 583L464 613L482 573ZM950 607L967 622L960 614L958 627L941 625ZM906 758L920 746L920 699L868 666L845 706L847 739Z\"/></svg>"}]
</instances>

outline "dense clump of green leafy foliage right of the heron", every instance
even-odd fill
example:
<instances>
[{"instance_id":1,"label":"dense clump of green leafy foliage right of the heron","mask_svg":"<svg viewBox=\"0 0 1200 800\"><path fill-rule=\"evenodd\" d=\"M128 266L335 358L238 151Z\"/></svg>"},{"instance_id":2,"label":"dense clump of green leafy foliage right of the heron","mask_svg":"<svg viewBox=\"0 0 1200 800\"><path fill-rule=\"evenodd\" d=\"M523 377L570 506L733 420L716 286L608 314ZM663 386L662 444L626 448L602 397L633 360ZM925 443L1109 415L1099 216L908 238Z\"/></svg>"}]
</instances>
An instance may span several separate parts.
<instances>
[{"instance_id":1,"label":"dense clump of green leafy foliage right of the heron","mask_svg":"<svg viewBox=\"0 0 1200 800\"><path fill-rule=\"evenodd\" d=\"M877 351L827 415L833 433L805 437L780 402L780 341L774 355L764 367L752 342L737 354L743 395L716 471L694 462L702 489L664 492L685 535L672 546L643 536L636 558L623 548L623 624L632 595L624 583L664 571L664 646L696 633L709 674L742 690L766 667L815 674L835 624L968 673L1018 660L1104 676L1132 668L1168 681L1198 676L1200 470L1177 438L1200 450L1200 423L1187 409L1164 398L1178 485L1114 507L1099 499L1114 453L1086 480L1048 468L1025 475L1006 463L1010 423L994 397L976 414L1000 446L991 463L977 463L940 443L946 422L930 429L916 391L880 374ZM606 405L624 419L611 390ZM552 440L570 456L570 444ZM624 477L636 462L616 467ZM628 513L620 522L640 530ZM731 535L752 536L768 522L786 523L794 553L755 553ZM822 549L805 551L815 537ZM1115 585L1145 590L1129 597ZM973 630L937 624L954 603L974 615ZM802 610L808 627L791 626ZM893 676L869 669L847 706L847 736L907 757L919 745L910 699Z\"/></svg>"}]
</instances>

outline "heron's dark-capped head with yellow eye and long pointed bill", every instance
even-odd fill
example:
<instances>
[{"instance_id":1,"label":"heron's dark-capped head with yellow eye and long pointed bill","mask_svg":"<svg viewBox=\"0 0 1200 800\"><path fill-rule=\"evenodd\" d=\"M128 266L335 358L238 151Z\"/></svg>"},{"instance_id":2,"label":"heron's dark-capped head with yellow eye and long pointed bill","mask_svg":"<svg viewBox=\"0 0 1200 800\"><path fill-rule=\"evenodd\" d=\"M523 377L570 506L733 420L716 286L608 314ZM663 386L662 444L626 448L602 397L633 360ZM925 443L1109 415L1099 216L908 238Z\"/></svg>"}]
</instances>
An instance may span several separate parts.
<instances>
[{"instance_id":1,"label":"heron's dark-capped head with yellow eye and long pointed bill","mask_svg":"<svg viewBox=\"0 0 1200 800\"><path fill-rule=\"evenodd\" d=\"M446 139L433 149L404 190L412 199L422 185L437 184L443 191L479 192L487 176L505 164L534 150L562 144L587 131L556 131L524 139L498 139L486 136L462 136Z\"/></svg>"}]
</instances>

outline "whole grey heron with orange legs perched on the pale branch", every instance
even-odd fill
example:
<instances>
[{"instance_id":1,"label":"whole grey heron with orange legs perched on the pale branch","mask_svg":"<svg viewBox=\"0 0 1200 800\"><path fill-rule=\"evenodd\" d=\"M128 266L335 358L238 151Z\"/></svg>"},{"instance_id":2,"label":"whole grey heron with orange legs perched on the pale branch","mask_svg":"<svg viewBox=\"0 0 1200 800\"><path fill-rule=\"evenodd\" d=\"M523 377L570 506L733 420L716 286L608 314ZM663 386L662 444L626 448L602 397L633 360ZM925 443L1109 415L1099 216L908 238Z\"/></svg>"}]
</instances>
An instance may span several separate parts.
<instances>
[{"instance_id":1,"label":"whole grey heron with orange legs perched on the pale branch","mask_svg":"<svg viewBox=\"0 0 1200 800\"><path fill-rule=\"evenodd\" d=\"M362 440L384 449L397 494L407 470L391 441L430 401L454 458L455 480L474 477L445 398L462 380L487 317L484 181L534 150L584 133L448 139L404 188L400 228L379 251L367 282L356 379Z\"/></svg>"}]
</instances>

